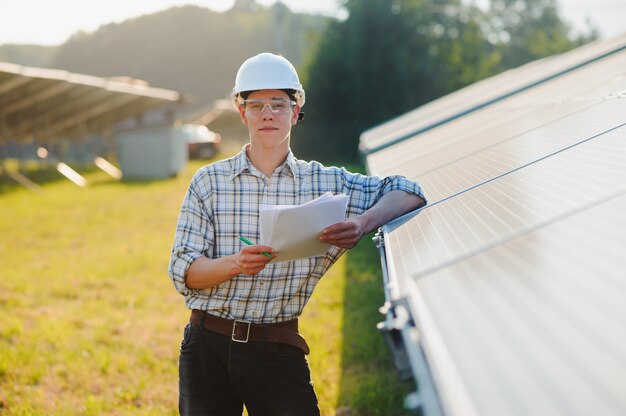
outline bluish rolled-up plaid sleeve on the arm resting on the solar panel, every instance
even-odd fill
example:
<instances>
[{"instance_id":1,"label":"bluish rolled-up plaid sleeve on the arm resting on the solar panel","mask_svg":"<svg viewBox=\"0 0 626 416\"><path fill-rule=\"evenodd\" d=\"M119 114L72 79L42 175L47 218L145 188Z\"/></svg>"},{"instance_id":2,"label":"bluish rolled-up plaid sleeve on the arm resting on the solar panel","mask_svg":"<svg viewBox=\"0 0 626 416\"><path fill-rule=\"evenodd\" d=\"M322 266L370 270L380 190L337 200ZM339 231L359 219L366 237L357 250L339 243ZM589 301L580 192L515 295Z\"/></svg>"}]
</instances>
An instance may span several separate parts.
<instances>
[{"instance_id":1,"label":"bluish rolled-up plaid sleeve on the arm resting on the solar panel","mask_svg":"<svg viewBox=\"0 0 626 416\"><path fill-rule=\"evenodd\" d=\"M404 176L393 175L381 178L350 173L345 169L342 169L342 176L343 192L350 196L348 216L362 214L376 204L383 195L396 190L415 194L424 200L422 206L426 205L426 197L419 184Z\"/></svg>"}]
</instances>

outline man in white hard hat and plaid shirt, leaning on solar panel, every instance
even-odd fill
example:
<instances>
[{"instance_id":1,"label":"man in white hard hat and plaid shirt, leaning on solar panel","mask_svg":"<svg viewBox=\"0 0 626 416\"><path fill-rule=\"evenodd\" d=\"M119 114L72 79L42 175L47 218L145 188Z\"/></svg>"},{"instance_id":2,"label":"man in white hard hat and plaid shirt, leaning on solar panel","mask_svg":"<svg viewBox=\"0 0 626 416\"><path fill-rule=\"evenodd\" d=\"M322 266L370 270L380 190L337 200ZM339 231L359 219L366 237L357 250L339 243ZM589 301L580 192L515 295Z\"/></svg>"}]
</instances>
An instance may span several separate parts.
<instances>
[{"instance_id":1,"label":"man in white hard hat and plaid shirt, leaning on solar panel","mask_svg":"<svg viewBox=\"0 0 626 416\"><path fill-rule=\"evenodd\" d=\"M426 203L403 177L367 177L290 151L305 94L289 61L245 61L233 103L250 143L196 172L183 202L169 274L192 310L179 361L183 415L319 415L297 319L328 268L359 239ZM321 231L325 256L280 262L259 241L259 205L349 197L347 218ZM305 219L303 219L305 220ZM251 240L252 245L241 242ZM275 262L268 264L272 259Z\"/></svg>"}]
</instances>

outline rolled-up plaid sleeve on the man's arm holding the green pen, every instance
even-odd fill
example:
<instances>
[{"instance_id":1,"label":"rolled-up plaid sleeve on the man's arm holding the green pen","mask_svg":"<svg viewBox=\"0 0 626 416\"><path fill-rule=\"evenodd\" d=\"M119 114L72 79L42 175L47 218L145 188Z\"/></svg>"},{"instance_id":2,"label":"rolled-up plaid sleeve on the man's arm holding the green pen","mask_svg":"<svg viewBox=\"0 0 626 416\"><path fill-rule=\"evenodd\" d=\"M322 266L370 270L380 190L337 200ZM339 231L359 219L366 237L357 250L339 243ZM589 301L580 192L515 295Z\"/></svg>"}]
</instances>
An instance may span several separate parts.
<instances>
[{"instance_id":1,"label":"rolled-up plaid sleeve on the man's arm holding the green pen","mask_svg":"<svg viewBox=\"0 0 626 416\"><path fill-rule=\"evenodd\" d=\"M168 268L174 287L183 296L191 292L185 284L189 266L198 257L211 253L214 244L208 196L205 197L198 192L201 189L198 182L199 178L194 177L183 200Z\"/></svg>"}]
</instances>

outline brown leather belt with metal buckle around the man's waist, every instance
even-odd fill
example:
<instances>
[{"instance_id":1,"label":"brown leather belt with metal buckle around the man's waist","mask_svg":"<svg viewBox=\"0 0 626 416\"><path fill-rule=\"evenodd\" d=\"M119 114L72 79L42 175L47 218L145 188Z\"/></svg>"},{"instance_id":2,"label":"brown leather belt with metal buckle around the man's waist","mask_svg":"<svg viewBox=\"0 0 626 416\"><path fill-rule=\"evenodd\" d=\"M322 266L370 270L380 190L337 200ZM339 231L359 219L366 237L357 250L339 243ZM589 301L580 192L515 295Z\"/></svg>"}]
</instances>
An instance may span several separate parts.
<instances>
[{"instance_id":1,"label":"brown leather belt with metal buckle around the man's waist","mask_svg":"<svg viewBox=\"0 0 626 416\"><path fill-rule=\"evenodd\" d=\"M193 309L189 322L209 331L229 336L235 342L278 342L293 345L300 348L305 354L309 354L309 346L302 338L302 335L298 333L297 319L272 324L253 324L248 321L220 318L219 316Z\"/></svg>"}]
</instances>

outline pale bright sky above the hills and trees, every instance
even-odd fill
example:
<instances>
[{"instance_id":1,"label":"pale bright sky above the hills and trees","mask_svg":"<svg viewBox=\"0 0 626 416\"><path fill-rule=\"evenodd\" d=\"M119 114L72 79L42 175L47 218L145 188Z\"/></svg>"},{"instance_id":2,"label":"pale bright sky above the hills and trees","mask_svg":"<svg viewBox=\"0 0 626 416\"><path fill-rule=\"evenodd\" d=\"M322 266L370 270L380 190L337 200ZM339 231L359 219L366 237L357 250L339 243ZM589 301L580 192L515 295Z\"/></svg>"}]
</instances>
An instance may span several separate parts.
<instances>
[{"instance_id":1,"label":"pale bright sky above the hills and trees","mask_svg":"<svg viewBox=\"0 0 626 416\"><path fill-rule=\"evenodd\" d=\"M282 0L292 11L340 15L336 0ZM626 32L626 0L558 0L561 17L584 29L589 18L601 37ZM59 45L82 30L93 32L173 6L194 4L216 11L228 10L234 0L0 0L0 45L30 43ZM275 0L257 0L270 5Z\"/></svg>"}]
</instances>

